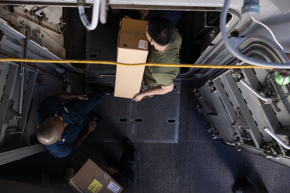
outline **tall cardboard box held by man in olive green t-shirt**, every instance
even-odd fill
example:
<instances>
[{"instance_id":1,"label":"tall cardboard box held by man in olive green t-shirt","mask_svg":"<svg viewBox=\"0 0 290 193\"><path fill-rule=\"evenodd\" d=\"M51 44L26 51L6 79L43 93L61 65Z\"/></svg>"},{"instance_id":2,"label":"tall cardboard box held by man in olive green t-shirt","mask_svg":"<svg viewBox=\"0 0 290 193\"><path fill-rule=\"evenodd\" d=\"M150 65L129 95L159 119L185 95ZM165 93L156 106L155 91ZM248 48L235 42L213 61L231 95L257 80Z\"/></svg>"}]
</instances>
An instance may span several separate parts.
<instances>
[{"instance_id":1,"label":"tall cardboard box held by man in olive green t-shirt","mask_svg":"<svg viewBox=\"0 0 290 193\"><path fill-rule=\"evenodd\" d=\"M123 64L145 64L149 41L146 37L148 21L123 18L119 31L117 62ZM140 92L145 65L117 65L115 96L133 98Z\"/></svg>"}]
</instances>

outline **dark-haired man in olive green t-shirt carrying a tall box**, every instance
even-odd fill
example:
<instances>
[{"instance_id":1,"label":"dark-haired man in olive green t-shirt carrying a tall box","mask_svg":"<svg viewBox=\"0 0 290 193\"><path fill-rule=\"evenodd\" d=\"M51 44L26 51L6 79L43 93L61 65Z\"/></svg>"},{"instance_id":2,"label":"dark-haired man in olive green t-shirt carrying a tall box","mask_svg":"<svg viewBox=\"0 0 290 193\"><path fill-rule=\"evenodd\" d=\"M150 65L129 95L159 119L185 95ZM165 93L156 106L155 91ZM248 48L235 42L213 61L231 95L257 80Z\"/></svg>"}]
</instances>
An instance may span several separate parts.
<instances>
[{"instance_id":1,"label":"dark-haired man in olive green t-shirt carrying a tall box","mask_svg":"<svg viewBox=\"0 0 290 193\"><path fill-rule=\"evenodd\" d=\"M146 25L146 36L150 42L148 63L179 64L181 36L170 20L153 17ZM173 79L179 67L146 66L140 93L132 100L140 101L144 96L162 95L174 88Z\"/></svg>"}]
</instances>

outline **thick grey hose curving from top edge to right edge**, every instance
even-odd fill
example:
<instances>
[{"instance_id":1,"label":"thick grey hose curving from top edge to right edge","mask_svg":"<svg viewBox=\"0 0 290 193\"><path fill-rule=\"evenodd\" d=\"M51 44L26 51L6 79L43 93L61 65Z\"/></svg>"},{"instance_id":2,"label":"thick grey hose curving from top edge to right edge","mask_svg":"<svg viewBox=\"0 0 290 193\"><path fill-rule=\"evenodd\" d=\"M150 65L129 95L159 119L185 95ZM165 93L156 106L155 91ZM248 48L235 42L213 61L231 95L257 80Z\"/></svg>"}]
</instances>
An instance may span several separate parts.
<instances>
[{"instance_id":1,"label":"thick grey hose curving from top edge to right edge","mask_svg":"<svg viewBox=\"0 0 290 193\"><path fill-rule=\"evenodd\" d=\"M274 69L290 69L290 63L271 63L266 61L254 60L241 54L231 45L228 34L226 32L226 16L229 10L229 4L230 0L225 0L224 7L222 8L222 14L220 16L220 31L222 34L222 40L224 41L224 44L226 45L226 48L229 50L229 52L239 60L245 61L246 63L251 65Z\"/></svg>"}]
</instances>

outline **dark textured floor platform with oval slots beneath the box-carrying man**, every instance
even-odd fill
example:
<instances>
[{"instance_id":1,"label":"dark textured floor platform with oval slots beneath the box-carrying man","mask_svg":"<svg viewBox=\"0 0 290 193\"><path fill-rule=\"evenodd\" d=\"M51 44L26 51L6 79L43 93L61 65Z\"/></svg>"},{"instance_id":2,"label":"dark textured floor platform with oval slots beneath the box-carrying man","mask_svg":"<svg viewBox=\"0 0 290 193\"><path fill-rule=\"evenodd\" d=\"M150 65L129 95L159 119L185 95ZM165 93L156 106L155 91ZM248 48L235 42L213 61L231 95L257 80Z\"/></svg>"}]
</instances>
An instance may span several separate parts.
<instances>
[{"instance_id":1,"label":"dark textured floor platform with oval slots beneath the box-carrying man","mask_svg":"<svg viewBox=\"0 0 290 193\"><path fill-rule=\"evenodd\" d=\"M99 24L87 32L86 59L116 61L118 31ZM115 65L86 64L86 93L99 86L115 87ZM180 104L180 74L175 88L165 95L155 95L139 102L107 96L93 110L103 117L88 141L177 143Z\"/></svg>"}]
</instances>

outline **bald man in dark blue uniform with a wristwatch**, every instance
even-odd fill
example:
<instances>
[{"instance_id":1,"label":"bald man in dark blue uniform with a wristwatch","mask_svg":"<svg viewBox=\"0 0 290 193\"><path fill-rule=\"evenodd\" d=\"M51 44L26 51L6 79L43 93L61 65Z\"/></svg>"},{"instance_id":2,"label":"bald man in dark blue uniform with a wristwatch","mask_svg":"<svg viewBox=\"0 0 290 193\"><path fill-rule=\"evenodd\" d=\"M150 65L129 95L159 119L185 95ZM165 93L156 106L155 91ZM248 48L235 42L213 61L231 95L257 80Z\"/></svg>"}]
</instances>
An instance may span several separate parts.
<instances>
[{"instance_id":1,"label":"bald man in dark blue uniform with a wristwatch","mask_svg":"<svg viewBox=\"0 0 290 193\"><path fill-rule=\"evenodd\" d=\"M101 117L89 121L88 114L114 90L98 88L88 96L77 93L58 93L46 97L37 108L37 139L55 157L66 157L81 146L96 128ZM75 99L65 105L62 102Z\"/></svg>"}]
</instances>

